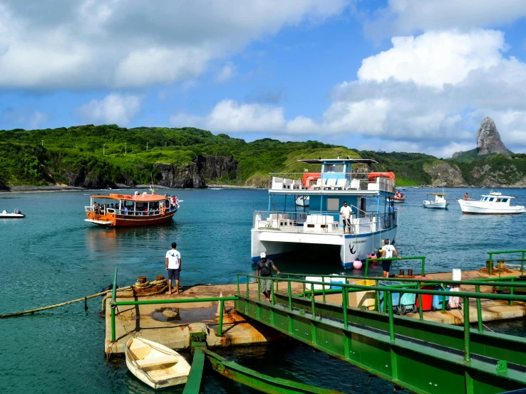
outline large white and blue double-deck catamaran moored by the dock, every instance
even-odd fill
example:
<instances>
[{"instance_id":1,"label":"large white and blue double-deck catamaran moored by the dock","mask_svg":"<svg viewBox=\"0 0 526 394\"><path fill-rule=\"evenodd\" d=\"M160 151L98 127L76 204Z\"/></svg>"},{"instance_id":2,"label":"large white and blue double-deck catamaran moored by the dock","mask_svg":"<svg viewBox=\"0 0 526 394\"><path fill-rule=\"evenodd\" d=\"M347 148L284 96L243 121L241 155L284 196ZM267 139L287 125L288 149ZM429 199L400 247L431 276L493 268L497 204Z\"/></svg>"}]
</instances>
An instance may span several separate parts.
<instances>
[{"instance_id":1,"label":"large white and blue double-deck catamaran moored by the dock","mask_svg":"<svg viewBox=\"0 0 526 394\"><path fill-rule=\"evenodd\" d=\"M321 172L306 174L269 174L269 211L254 211L252 221L252 261L262 252L269 258L294 252L304 244L336 245L340 249L341 265L353 266L358 257L365 260L388 238L393 243L398 225L398 213L389 212L395 192L392 173L353 173L353 164L374 164L368 159L300 160L320 164ZM287 176L285 178L284 176ZM282 196L284 210L274 204ZM309 211L287 211L287 196L309 197ZM373 210L366 208L367 198ZM353 211L344 234L340 208L344 201ZM294 207L296 205L294 204ZM274 211L270 211L274 208Z\"/></svg>"}]
</instances>

